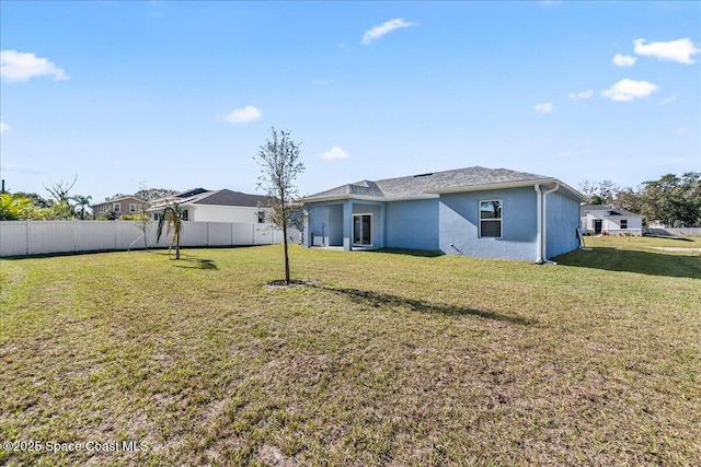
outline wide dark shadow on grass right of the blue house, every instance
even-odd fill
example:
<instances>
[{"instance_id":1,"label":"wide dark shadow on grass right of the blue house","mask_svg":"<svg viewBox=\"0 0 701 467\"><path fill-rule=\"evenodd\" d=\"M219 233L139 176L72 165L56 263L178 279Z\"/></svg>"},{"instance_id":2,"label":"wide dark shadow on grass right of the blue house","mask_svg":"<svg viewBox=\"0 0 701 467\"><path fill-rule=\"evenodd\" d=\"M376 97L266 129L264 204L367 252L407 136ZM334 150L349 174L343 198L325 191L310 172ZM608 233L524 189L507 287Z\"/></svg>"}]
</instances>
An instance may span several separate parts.
<instances>
[{"instance_id":1,"label":"wide dark shadow on grass right of the blue house","mask_svg":"<svg viewBox=\"0 0 701 467\"><path fill-rule=\"evenodd\" d=\"M595 247L591 250L567 253L554 260L559 265L579 268L701 279L701 257L699 255L670 255L664 252Z\"/></svg>"}]
</instances>

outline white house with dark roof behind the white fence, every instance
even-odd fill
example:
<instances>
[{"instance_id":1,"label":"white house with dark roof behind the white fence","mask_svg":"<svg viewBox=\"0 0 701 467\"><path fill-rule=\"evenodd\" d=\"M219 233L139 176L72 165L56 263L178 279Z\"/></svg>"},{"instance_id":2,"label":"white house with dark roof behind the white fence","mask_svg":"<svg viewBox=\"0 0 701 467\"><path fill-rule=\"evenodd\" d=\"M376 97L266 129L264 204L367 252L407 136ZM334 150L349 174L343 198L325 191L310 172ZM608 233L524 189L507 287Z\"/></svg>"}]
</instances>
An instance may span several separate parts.
<instances>
[{"instance_id":1,"label":"white house with dark roof behind the white fence","mask_svg":"<svg viewBox=\"0 0 701 467\"><path fill-rule=\"evenodd\" d=\"M163 209L173 203L180 205L183 219L202 222L241 222L267 223L268 208L263 208L267 197L248 195L229 189L207 190L195 188L168 198L151 201L149 212L158 220Z\"/></svg>"}]
</instances>

